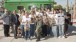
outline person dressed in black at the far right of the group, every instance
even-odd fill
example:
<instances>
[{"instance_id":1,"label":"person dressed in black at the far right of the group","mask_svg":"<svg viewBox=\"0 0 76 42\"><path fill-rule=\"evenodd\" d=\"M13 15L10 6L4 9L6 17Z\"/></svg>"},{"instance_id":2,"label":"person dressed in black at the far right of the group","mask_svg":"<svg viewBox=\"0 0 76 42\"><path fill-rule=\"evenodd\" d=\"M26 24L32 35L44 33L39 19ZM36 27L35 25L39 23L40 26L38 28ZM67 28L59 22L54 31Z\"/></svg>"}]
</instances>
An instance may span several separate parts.
<instances>
[{"instance_id":1,"label":"person dressed in black at the far right of the group","mask_svg":"<svg viewBox=\"0 0 76 42\"><path fill-rule=\"evenodd\" d=\"M68 31L68 25L72 25L71 24L71 14L69 12L66 12L65 15L65 29L64 29L64 33L65 33L65 38L67 38L67 31Z\"/></svg>"}]
</instances>

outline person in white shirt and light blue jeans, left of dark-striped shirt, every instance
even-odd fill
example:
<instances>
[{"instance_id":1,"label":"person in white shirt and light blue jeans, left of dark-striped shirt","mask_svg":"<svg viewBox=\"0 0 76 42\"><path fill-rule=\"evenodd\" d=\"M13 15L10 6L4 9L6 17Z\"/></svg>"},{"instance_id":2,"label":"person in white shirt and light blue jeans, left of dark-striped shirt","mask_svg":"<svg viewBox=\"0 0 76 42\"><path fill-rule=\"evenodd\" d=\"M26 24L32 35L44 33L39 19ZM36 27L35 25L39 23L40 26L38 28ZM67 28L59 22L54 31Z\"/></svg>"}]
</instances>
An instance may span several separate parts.
<instances>
[{"instance_id":1,"label":"person in white shirt and light blue jeans, left of dark-striped shirt","mask_svg":"<svg viewBox=\"0 0 76 42\"><path fill-rule=\"evenodd\" d=\"M56 13L56 11L54 11L54 14L51 16L52 19L54 19L52 22L52 33L53 33L53 36L54 37L57 37L58 36L58 33L57 33L57 20L58 20L58 14Z\"/></svg>"}]
</instances>

